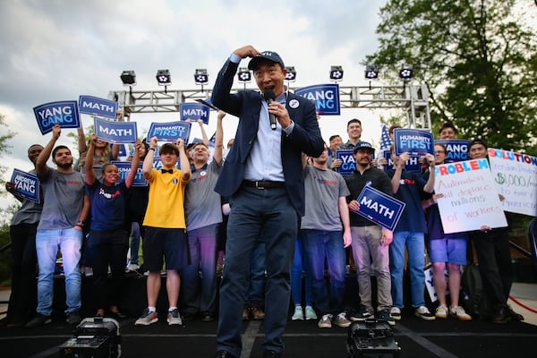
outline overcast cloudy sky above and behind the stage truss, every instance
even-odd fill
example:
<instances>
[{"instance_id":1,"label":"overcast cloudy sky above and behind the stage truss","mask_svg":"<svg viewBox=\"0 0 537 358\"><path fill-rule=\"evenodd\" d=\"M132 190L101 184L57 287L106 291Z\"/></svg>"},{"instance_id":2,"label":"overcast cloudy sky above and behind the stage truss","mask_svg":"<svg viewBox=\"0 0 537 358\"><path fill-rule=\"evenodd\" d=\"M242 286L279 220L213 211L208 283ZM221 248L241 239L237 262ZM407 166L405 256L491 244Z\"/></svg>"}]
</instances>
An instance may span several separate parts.
<instances>
[{"instance_id":1,"label":"overcast cloudy sky above and behind the stage truss","mask_svg":"<svg viewBox=\"0 0 537 358\"><path fill-rule=\"evenodd\" d=\"M42 136L39 132L33 107L76 100L80 95L107 98L110 90L124 90L119 78L123 70L136 72L138 84L134 90L162 90L155 80L159 69L170 70L171 89L195 90L195 69L207 68L208 87L212 87L227 56L235 48L251 44L260 51L277 51L286 65L295 67L297 80L293 87L328 83L333 64L344 68L341 86L363 85L360 62L378 46L375 29L379 8L385 3L3 0L0 113L9 130L17 132L9 142L12 154L2 159L8 166L4 179L11 177L13 167L29 170L26 150L30 144L46 144L50 139L50 133ZM339 133L346 141L346 121L354 116L369 118L368 112L345 110L339 118L322 117L323 137L328 141L330 135ZM141 122L149 127L151 121L168 121L161 114L143 121L137 116L131 119L137 123L140 120L140 133L145 125ZM177 113L173 119L178 117ZM236 118L228 118L228 125L225 123L225 139L234 135L234 121ZM378 142L378 121L364 122L363 139ZM209 136L213 128L209 125ZM0 131L5 135L4 127ZM69 145L76 157L72 140L66 138L70 131L64 130L58 143ZM192 132L199 136L194 129Z\"/></svg>"}]
</instances>

